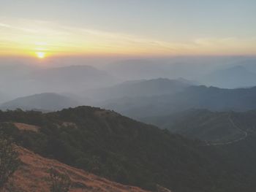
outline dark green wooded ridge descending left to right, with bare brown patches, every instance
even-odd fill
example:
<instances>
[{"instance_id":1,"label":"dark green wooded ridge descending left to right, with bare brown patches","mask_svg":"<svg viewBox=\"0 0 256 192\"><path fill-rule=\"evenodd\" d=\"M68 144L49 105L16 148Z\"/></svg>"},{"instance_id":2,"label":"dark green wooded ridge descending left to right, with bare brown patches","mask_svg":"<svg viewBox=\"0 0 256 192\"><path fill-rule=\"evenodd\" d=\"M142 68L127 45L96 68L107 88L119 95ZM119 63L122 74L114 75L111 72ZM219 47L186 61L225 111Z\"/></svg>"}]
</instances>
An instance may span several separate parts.
<instances>
[{"instance_id":1,"label":"dark green wooded ridge descending left to right, with bare brown patches","mask_svg":"<svg viewBox=\"0 0 256 192\"><path fill-rule=\"evenodd\" d=\"M254 173L241 172L205 142L116 112L94 107L45 114L18 110L0 112L0 122L1 131L18 145L118 183L151 190L159 184L175 192L255 189Z\"/></svg>"}]
</instances>

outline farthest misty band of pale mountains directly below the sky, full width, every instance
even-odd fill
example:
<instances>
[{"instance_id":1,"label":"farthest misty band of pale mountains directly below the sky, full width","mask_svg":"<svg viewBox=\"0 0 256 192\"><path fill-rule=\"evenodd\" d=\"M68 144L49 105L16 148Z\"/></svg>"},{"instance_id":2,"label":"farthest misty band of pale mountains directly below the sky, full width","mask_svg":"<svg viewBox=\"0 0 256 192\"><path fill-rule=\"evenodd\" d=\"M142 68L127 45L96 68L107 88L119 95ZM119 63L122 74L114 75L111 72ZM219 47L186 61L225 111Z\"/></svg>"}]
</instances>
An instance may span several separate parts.
<instances>
[{"instance_id":1,"label":"farthest misty band of pale mountains directly below the sky, full width","mask_svg":"<svg viewBox=\"0 0 256 192\"><path fill-rule=\"evenodd\" d=\"M249 57L137 59L105 65L95 62L90 64L88 61L79 61L76 65L70 61L62 62L43 66L31 61L0 61L0 92L8 96L0 102L49 92L76 94L86 100L87 94L92 95L92 89L108 89L125 81L159 78L174 80L182 77L192 80L193 85L219 88L248 88L256 85L255 58Z\"/></svg>"}]
</instances>

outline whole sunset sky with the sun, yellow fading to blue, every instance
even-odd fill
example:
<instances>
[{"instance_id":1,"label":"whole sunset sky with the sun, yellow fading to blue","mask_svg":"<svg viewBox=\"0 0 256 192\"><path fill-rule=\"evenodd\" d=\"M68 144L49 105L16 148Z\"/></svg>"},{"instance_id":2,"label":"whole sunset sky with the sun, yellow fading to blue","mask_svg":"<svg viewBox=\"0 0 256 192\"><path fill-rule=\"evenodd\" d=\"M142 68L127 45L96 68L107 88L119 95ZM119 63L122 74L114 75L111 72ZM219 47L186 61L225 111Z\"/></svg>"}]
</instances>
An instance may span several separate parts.
<instances>
[{"instance_id":1,"label":"whole sunset sky with the sun, yellow fading to blue","mask_svg":"<svg viewBox=\"0 0 256 192\"><path fill-rule=\"evenodd\" d=\"M255 0L0 0L0 55L256 55Z\"/></svg>"}]
</instances>

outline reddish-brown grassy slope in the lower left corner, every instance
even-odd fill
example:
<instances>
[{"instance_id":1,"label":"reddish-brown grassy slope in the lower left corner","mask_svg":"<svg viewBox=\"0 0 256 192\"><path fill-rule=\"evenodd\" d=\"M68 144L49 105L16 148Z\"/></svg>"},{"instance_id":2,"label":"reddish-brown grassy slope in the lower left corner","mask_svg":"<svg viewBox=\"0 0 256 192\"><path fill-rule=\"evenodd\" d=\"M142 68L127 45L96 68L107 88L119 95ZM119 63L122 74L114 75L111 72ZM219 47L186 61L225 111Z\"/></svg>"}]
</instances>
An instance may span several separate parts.
<instances>
[{"instance_id":1,"label":"reddish-brown grassy slope in the lower left corner","mask_svg":"<svg viewBox=\"0 0 256 192\"><path fill-rule=\"evenodd\" d=\"M50 191L50 175L48 170L53 168L69 176L72 182L71 192L146 192L140 188L111 182L110 180L89 174L81 169L75 169L72 166L61 164L59 161L43 158L22 147L18 147L18 153L22 164L10 179L10 185L14 184L16 191Z\"/></svg>"}]
</instances>

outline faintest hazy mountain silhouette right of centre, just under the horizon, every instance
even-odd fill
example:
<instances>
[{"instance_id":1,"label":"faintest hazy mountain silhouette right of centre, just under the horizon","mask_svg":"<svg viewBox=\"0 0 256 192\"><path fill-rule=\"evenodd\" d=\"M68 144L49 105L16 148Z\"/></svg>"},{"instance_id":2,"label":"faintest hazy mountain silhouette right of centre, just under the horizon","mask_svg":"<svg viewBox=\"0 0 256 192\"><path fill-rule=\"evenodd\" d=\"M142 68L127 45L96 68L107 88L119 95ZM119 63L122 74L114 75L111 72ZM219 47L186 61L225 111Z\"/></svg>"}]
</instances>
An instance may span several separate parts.
<instances>
[{"instance_id":1,"label":"faintest hazy mountain silhouette right of centre, just under the horizon","mask_svg":"<svg viewBox=\"0 0 256 192\"><path fill-rule=\"evenodd\" d=\"M196 79L220 66L222 57L173 57L158 59L129 59L104 67L105 71L122 80L155 79L158 77Z\"/></svg>"}]
</instances>

